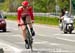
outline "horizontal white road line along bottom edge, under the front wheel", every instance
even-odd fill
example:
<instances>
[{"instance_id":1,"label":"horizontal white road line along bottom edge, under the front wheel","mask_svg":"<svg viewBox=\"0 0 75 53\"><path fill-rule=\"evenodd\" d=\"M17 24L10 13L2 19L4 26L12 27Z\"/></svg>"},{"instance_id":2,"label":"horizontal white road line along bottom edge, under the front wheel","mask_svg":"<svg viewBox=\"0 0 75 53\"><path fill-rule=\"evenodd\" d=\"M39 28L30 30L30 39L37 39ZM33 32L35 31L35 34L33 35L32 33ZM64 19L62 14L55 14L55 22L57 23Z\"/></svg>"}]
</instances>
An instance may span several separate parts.
<instances>
[{"instance_id":1,"label":"horizontal white road line along bottom edge, under the front wheel","mask_svg":"<svg viewBox=\"0 0 75 53\"><path fill-rule=\"evenodd\" d=\"M62 52L70 52L68 50L62 50L61 48L46 48L46 49L37 49L37 48L33 48L35 53L43 53L43 52L51 52L51 53L62 53ZM22 50L22 51L30 51L30 50ZM30 52L29 52L30 53Z\"/></svg>"}]
</instances>

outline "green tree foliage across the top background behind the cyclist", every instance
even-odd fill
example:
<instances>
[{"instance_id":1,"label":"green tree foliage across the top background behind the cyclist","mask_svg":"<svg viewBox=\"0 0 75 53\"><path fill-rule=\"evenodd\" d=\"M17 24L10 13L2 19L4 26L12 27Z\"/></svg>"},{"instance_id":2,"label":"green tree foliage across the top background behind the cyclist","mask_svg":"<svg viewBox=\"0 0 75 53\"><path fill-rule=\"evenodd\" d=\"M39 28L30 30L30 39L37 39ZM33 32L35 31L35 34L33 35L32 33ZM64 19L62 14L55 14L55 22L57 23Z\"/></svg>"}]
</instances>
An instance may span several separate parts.
<instances>
[{"instance_id":1,"label":"green tree foliage across the top background behind the cyclist","mask_svg":"<svg viewBox=\"0 0 75 53\"><path fill-rule=\"evenodd\" d=\"M0 3L0 9L4 11L14 12L21 5L24 0L5 0L4 3ZM56 0L28 0L30 5L33 6L35 12L55 12ZM67 7L69 9L69 0L57 0L57 4L60 9Z\"/></svg>"}]
</instances>

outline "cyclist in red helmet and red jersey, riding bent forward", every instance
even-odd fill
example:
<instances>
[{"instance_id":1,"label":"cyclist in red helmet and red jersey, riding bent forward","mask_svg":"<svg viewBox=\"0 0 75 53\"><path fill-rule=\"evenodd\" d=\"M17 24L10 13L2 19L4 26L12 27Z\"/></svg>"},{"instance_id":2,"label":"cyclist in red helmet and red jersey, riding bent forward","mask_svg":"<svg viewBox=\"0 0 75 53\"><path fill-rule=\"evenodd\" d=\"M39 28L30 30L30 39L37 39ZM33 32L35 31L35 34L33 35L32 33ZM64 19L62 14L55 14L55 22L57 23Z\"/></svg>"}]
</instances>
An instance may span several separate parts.
<instances>
[{"instance_id":1,"label":"cyclist in red helmet and red jersey, riding bent forward","mask_svg":"<svg viewBox=\"0 0 75 53\"><path fill-rule=\"evenodd\" d=\"M23 1L22 2L22 6L20 6L17 9L17 20L18 20L18 26L21 28L22 30L22 36L24 38L25 43L27 44L27 40L26 40L26 28L24 25L24 22L22 20L22 18L26 16L26 22L29 22L29 27L32 33L32 36L35 35L35 32L33 30L32 27L32 23L34 23L34 16L33 16L33 10L32 10L32 6L29 6L29 2L28 1Z\"/></svg>"}]
</instances>

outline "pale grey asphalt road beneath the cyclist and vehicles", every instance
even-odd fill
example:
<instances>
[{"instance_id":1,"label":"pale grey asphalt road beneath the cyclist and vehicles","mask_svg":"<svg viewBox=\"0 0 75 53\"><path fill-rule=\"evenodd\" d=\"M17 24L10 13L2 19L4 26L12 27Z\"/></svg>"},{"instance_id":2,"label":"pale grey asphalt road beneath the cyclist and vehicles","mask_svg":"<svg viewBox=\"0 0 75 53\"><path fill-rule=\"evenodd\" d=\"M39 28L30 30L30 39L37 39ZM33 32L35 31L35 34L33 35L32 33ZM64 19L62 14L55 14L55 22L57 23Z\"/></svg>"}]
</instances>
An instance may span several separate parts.
<instances>
[{"instance_id":1,"label":"pale grey asphalt road beneath the cyclist and vehicles","mask_svg":"<svg viewBox=\"0 0 75 53\"><path fill-rule=\"evenodd\" d=\"M75 53L75 31L63 34L58 27L33 25L36 31L33 53ZM25 49L21 30L15 21L7 21L7 32L0 31L0 48L4 53L31 53Z\"/></svg>"}]
</instances>

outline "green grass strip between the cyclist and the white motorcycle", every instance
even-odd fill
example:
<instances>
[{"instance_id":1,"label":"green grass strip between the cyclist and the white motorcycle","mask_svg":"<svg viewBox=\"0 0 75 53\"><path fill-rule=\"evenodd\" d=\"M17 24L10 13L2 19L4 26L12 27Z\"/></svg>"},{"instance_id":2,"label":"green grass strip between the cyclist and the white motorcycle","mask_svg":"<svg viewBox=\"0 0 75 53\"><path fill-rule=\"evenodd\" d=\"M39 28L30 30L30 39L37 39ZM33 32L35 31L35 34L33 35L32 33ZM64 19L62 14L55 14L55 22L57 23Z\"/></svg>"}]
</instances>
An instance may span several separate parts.
<instances>
[{"instance_id":1,"label":"green grass strip between the cyclist and the white motorcycle","mask_svg":"<svg viewBox=\"0 0 75 53\"><path fill-rule=\"evenodd\" d=\"M58 18L56 17L35 17L35 23L58 25Z\"/></svg>"}]
</instances>

